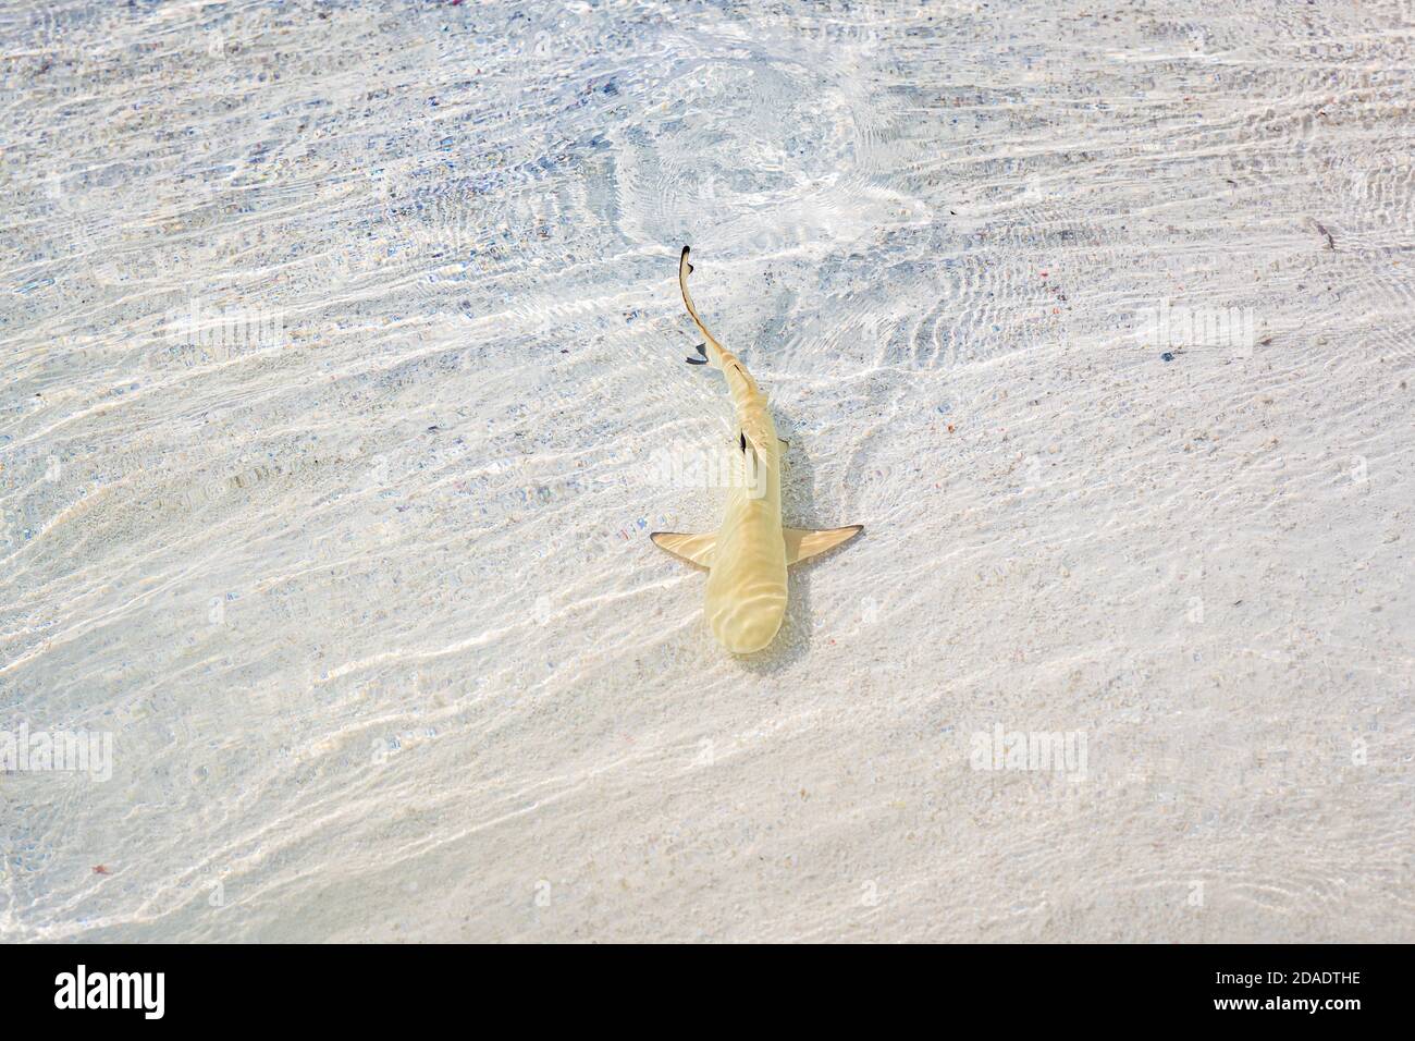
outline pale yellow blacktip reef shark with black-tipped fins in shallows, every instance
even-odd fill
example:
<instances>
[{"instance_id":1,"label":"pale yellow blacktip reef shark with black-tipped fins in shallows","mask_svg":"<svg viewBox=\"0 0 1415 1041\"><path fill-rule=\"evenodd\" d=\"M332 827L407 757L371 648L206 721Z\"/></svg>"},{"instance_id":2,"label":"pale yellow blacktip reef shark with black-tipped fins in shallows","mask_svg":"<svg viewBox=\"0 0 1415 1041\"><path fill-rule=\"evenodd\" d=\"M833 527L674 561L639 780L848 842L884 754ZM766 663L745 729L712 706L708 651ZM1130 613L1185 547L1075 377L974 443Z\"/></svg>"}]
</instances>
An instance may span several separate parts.
<instances>
[{"instance_id":1,"label":"pale yellow blacktip reef shark with black-tipped fins in shallows","mask_svg":"<svg viewBox=\"0 0 1415 1041\"><path fill-rule=\"evenodd\" d=\"M726 350L693 307L688 293L688 246L678 258L678 288L683 292L688 314L703 337L691 365L712 365L722 371L737 411L737 449L743 472L754 480L733 482L727 493L727 511L716 533L689 535L655 531L654 542L675 557L708 568L708 623L723 647L733 654L761 650L781 629L787 613L787 567L811 559L849 541L863 525L850 524L828 531L807 531L781 524L781 446L771 422L767 395Z\"/></svg>"}]
</instances>

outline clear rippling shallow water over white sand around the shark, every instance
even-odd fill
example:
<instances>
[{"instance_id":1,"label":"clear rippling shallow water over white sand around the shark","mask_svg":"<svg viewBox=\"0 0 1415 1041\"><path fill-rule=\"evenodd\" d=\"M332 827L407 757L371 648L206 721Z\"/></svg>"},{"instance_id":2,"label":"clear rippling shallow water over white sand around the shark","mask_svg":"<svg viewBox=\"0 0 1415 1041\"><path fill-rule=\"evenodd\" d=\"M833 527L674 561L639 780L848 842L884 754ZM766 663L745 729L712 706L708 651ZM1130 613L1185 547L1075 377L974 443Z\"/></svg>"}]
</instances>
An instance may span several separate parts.
<instances>
[{"instance_id":1,"label":"clear rippling shallow water over white sand around the shark","mask_svg":"<svg viewBox=\"0 0 1415 1041\"><path fill-rule=\"evenodd\" d=\"M1409 4L0 11L0 938L1415 939Z\"/></svg>"}]
</instances>

